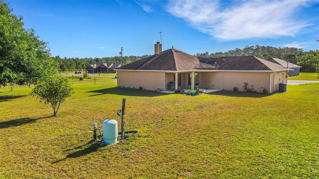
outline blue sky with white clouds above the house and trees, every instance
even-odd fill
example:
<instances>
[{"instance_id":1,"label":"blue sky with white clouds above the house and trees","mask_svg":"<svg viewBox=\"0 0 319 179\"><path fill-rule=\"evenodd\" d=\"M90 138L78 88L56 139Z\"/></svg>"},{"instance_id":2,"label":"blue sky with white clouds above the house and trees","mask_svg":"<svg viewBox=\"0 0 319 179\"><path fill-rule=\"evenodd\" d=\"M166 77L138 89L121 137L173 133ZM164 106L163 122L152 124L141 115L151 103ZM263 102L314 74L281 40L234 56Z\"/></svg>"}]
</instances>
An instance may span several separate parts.
<instances>
[{"instance_id":1,"label":"blue sky with white clouds above the house and trees","mask_svg":"<svg viewBox=\"0 0 319 179\"><path fill-rule=\"evenodd\" d=\"M319 2L286 1L6 1L49 42L53 56L107 57L224 52L246 45L319 47Z\"/></svg>"}]
</instances>

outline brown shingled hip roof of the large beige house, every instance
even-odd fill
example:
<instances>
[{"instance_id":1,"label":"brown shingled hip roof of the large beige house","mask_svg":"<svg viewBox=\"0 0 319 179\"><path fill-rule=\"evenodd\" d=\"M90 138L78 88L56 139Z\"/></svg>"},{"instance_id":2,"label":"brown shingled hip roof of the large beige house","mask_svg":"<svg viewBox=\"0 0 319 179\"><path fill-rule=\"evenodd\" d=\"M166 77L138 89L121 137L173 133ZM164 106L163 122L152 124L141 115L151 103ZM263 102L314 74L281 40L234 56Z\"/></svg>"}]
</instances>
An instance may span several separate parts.
<instances>
[{"instance_id":1,"label":"brown shingled hip roof of the large beige house","mask_svg":"<svg viewBox=\"0 0 319 179\"><path fill-rule=\"evenodd\" d=\"M119 70L238 70L238 71L277 71L287 70L281 65L255 56L204 57L186 54L176 49L168 49L158 55L117 68Z\"/></svg>"}]
</instances>

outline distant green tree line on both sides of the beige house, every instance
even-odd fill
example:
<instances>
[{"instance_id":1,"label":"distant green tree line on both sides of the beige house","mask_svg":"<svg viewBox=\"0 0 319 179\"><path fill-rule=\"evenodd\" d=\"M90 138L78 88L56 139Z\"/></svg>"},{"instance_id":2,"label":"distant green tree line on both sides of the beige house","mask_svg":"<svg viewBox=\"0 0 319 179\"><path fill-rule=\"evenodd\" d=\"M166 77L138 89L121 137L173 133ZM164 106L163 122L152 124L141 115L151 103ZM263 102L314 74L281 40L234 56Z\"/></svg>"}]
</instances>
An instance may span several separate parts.
<instances>
[{"instance_id":1,"label":"distant green tree line on both sides of the beige house","mask_svg":"<svg viewBox=\"0 0 319 179\"><path fill-rule=\"evenodd\" d=\"M304 52L302 48L294 48L294 47L284 47L284 48L276 48L271 46L246 46L243 49L235 48L234 50L228 50L227 52L216 52L216 53L197 53L194 56L197 57L220 57L220 56L251 56L254 55L256 57L268 60L270 58L279 58L285 61L289 61L291 63L302 66L300 68L300 72L317 72L314 63L311 61L307 61L307 56L309 55L317 55L316 51L310 50L309 52ZM132 63L137 60L141 60L143 58L149 57L151 55L143 55L143 56L123 56L122 64L126 65ZM114 57L103 57L103 58L60 58L59 56L52 57L57 62L60 59L60 68L61 71L74 71L74 70L83 70L90 63L93 62L114 62L120 63L121 56Z\"/></svg>"}]
</instances>

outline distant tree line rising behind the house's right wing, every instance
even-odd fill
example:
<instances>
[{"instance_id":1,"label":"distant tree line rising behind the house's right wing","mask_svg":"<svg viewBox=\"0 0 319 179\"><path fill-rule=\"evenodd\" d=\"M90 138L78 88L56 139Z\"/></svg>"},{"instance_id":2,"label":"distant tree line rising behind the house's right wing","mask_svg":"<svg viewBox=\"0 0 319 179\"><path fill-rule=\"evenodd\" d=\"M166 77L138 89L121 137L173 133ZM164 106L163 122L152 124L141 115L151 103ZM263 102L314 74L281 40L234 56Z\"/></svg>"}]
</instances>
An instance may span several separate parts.
<instances>
[{"instance_id":1,"label":"distant tree line rising behind the house's right wing","mask_svg":"<svg viewBox=\"0 0 319 179\"><path fill-rule=\"evenodd\" d=\"M302 48L284 47L276 48L271 46L246 46L243 49L235 48L234 50L228 50L227 52L216 53L197 53L194 56L197 57L221 57L221 56L251 56L268 60L270 58L279 58L281 60L289 61L291 63L302 66L300 72L317 72L313 61L307 61L307 56L316 56L317 52L310 50L304 52Z\"/></svg>"}]
</instances>

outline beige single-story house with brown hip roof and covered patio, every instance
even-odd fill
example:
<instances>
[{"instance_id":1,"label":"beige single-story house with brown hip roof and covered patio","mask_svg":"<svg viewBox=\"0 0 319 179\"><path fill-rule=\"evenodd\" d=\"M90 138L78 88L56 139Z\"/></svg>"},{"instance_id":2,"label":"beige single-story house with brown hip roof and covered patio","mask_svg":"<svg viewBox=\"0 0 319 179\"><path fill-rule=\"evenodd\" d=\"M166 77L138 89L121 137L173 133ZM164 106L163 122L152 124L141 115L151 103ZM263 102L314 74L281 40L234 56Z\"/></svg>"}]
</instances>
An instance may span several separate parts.
<instances>
[{"instance_id":1,"label":"beige single-story house with brown hip roof and covered patio","mask_svg":"<svg viewBox=\"0 0 319 179\"><path fill-rule=\"evenodd\" d=\"M155 44L156 49L156 44ZM171 48L116 69L117 86L142 87L151 90L175 89L225 89L243 91L248 88L271 93L278 91L279 83L287 82L287 72L282 65L255 56L199 58Z\"/></svg>"}]
</instances>

